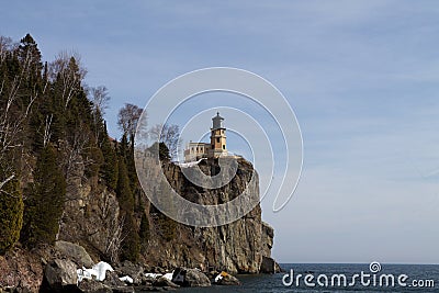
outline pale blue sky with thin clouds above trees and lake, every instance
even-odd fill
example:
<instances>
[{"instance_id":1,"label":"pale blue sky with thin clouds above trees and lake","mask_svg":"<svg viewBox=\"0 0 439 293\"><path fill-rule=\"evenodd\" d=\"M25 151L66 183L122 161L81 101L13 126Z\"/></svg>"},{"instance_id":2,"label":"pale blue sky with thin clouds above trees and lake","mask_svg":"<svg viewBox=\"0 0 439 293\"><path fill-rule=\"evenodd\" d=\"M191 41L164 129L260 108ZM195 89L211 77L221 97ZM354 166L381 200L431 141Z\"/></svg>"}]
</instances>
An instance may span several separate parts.
<instances>
[{"instance_id":1,"label":"pale blue sky with thin clouds above trees and lake","mask_svg":"<svg viewBox=\"0 0 439 293\"><path fill-rule=\"evenodd\" d=\"M437 1L4 3L0 35L26 33L45 60L81 55L86 82L109 89L115 137L124 103L144 106L185 72L236 67L272 82L304 147L289 204L262 201L279 262L439 262Z\"/></svg>"}]
</instances>

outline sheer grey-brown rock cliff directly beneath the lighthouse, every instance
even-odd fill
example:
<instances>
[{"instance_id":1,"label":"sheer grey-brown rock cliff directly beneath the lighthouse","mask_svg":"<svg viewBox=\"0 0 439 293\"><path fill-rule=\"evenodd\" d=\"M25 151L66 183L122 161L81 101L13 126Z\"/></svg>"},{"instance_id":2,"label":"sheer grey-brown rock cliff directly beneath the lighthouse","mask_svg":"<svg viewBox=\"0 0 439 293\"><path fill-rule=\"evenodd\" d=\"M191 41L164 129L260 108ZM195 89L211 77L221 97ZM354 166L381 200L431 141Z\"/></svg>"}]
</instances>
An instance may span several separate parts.
<instances>
[{"instance_id":1,"label":"sheer grey-brown rock cliff directly beneath the lighthouse","mask_svg":"<svg viewBox=\"0 0 439 293\"><path fill-rule=\"evenodd\" d=\"M213 176L218 168L217 160L205 160L199 165L207 176ZM196 168L196 167L194 167ZM229 183L219 189L203 189L195 187L185 179L179 166L167 164L162 170L172 188L183 198L195 203L222 204L238 196L247 189L250 196L259 199L259 184L248 185L254 172L251 164L244 159L238 160L236 176ZM150 171L151 172L151 171ZM157 185L151 185L147 192L157 191ZM155 222L158 212L153 212L151 239L145 260L153 266L173 268L184 266L200 268L201 270L227 271L229 273L258 273L262 257L271 257L270 249L273 244L272 228L261 219L261 209L257 204L244 217L218 227L200 228L177 225L176 238L165 240L160 237L160 229Z\"/></svg>"}]
</instances>

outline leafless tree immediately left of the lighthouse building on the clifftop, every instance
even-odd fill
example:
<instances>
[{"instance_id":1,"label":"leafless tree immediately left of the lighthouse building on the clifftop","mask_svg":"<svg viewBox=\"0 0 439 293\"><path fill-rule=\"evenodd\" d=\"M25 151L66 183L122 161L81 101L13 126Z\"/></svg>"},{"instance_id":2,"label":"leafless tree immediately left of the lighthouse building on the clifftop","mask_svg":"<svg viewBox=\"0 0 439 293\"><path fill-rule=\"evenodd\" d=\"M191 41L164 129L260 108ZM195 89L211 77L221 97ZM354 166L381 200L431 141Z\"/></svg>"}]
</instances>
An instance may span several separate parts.
<instances>
[{"instance_id":1,"label":"leafless tree immediately left of the lighthouse building on the clifftop","mask_svg":"<svg viewBox=\"0 0 439 293\"><path fill-rule=\"evenodd\" d=\"M149 134L151 135L153 139L165 143L169 149L169 155L171 158L177 158L178 148L182 143L182 139L180 138L180 127L178 125L157 124L150 128Z\"/></svg>"}]
</instances>

